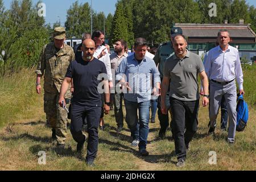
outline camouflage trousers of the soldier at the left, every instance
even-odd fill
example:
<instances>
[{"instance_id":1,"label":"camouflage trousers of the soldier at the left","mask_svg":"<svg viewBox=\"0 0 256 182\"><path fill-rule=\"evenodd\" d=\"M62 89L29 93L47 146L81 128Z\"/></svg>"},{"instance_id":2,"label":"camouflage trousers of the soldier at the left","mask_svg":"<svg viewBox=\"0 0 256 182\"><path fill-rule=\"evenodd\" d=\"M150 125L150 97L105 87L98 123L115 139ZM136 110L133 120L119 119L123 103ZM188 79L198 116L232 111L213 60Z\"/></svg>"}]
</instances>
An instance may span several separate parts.
<instances>
[{"instance_id":1,"label":"camouflage trousers of the soldier at the left","mask_svg":"<svg viewBox=\"0 0 256 182\"><path fill-rule=\"evenodd\" d=\"M67 137L68 114L63 107L59 105L59 92L44 92L44 112L49 127L56 129L56 137L58 144L64 144ZM70 105L70 98L65 98L66 107Z\"/></svg>"}]
</instances>

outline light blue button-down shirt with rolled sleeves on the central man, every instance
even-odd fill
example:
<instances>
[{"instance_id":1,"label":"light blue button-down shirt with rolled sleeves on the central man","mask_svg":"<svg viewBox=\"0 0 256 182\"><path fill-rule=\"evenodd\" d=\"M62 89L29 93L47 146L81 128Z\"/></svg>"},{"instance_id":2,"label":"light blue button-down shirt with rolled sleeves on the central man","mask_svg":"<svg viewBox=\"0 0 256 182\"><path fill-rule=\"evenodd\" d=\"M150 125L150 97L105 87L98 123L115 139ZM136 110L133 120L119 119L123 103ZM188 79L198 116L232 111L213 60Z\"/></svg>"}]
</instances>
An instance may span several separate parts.
<instances>
[{"instance_id":1,"label":"light blue button-down shirt with rolled sleeves on the central man","mask_svg":"<svg viewBox=\"0 0 256 182\"><path fill-rule=\"evenodd\" d=\"M144 59L139 64L134 55L130 55L122 60L118 69L116 80L125 78L129 82L130 90L124 90L125 100L131 102L145 102L151 99L151 78L154 80L154 85L160 83L160 73L156 68L154 60L149 57ZM127 91L127 92L126 92Z\"/></svg>"}]
</instances>

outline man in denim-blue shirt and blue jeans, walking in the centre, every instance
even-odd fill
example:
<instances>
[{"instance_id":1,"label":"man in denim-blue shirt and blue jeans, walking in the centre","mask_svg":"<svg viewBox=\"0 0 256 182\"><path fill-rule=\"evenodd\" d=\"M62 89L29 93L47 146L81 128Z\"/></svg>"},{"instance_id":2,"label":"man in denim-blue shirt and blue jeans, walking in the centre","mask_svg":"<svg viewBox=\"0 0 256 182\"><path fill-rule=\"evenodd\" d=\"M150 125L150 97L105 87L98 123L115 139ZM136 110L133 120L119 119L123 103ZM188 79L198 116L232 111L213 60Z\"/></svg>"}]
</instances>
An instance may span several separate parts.
<instances>
[{"instance_id":1,"label":"man in denim-blue shirt and blue jeans, walking in the centre","mask_svg":"<svg viewBox=\"0 0 256 182\"><path fill-rule=\"evenodd\" d=\"M160 77L154 60L145 56L147 42L137 38L134 55L122 60L117 70L116 79L123 85L126 108L126 122L133 137L132 146L139 145L139 154L147 156L146 151L151 93L159 96ZM154 89L151 90L151 75ZM138 115L139 110L139 125Z\"/></svg>"}]
</instances>

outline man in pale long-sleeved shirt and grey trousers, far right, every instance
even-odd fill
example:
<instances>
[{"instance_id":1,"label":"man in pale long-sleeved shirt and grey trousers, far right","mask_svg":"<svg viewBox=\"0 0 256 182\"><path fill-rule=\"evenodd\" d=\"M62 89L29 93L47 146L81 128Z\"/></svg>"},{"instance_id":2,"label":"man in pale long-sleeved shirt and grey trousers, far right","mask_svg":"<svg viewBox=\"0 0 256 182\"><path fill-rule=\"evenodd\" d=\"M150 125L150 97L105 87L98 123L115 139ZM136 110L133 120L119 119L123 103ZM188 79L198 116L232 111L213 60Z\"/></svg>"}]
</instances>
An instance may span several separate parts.
<instances>
[{"instance_id":1,"label":"man in pale long-sleeved shirt and grey trousers, far right","mask_svg":"<svg viewBox=\"0 0 256 182\"><path fill-rule=\"evenodd\" d=\"M237 121L235 80L237 80L239 93L245 94L243 91L243 73L238 49L229 46L230 36L227 30L218 32L218 42L220 46L210 49L204 63L205 72L210 80L210 129L208 133L214 134L218 109L220 108L221 98L224 96L229 115L228 142L233 144Z\"/></svg>"}]
</instances>

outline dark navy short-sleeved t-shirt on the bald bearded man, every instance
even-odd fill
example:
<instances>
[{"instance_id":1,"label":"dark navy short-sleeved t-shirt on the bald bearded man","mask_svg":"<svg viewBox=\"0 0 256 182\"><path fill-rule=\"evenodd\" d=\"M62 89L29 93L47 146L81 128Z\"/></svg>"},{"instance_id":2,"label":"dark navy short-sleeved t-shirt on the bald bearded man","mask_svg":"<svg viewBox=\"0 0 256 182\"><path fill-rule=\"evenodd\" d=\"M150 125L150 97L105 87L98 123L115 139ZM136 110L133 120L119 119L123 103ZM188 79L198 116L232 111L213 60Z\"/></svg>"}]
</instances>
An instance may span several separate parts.
<instances>
[{"instance_id":1,"label":"dark navy short-sleeved t-shirt on the bald bearded man","mask_svg":"<svg viewBox=\"0 0 256 182\"><path fill-rule=\"evenodd\" d=\"M105 64L98 59L94 58L90 62L82 59L72 61L66 77L73 78L73 101L86 106L101 107L101 94L97 89L102 81L102 79L98 80L101 73L104 73L105 77L108 78ZM102 87L100 86L100 88Z\"/></svg>"}]
</instances>

